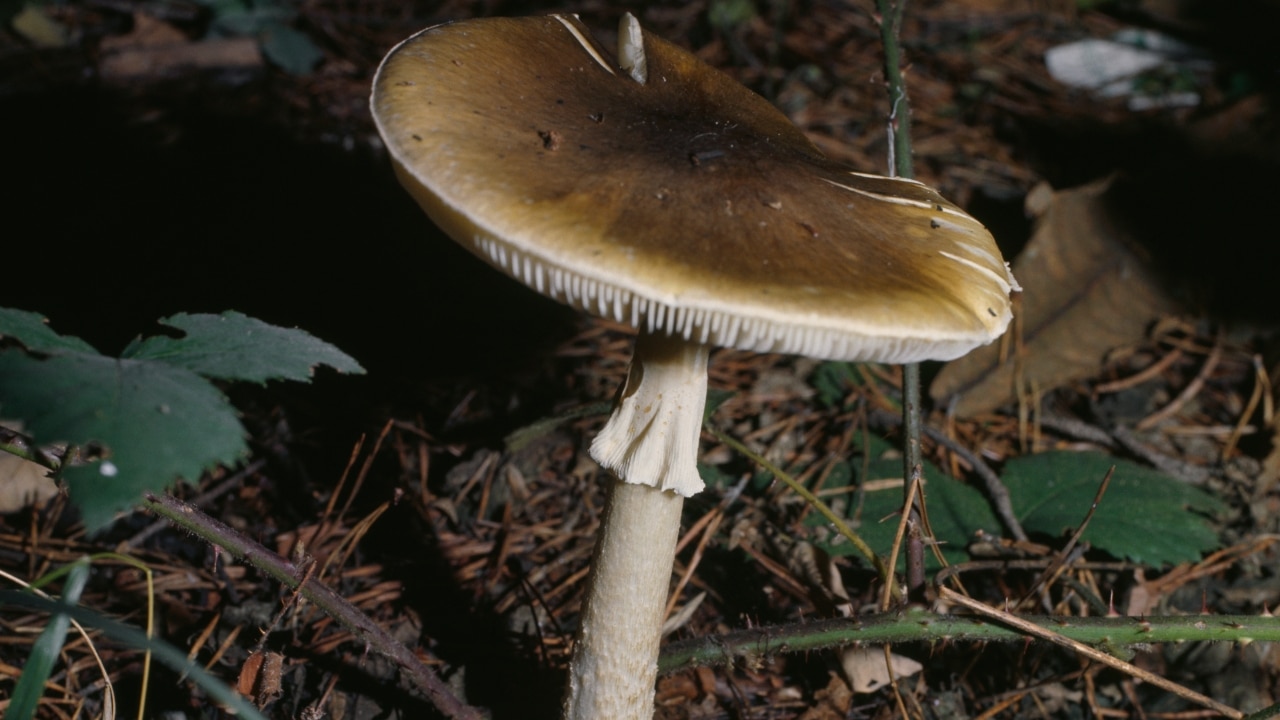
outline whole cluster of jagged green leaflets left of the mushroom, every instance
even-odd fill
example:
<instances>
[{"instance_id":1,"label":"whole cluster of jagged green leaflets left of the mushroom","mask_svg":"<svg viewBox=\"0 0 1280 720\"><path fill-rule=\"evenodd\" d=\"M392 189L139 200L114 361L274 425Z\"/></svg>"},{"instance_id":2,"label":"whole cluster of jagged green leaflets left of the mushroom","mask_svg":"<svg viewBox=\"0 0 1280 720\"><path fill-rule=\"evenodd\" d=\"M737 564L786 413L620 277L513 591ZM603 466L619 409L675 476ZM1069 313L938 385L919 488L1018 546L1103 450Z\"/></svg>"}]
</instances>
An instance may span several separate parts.
<instances>
[{"instance_id":1,"label":"whole cluster of jagged green leaflets left of the mushroom","mask_svg":"<svg viewBox=\"0 0 1280 720\"><path fill-rule=\"evenodd\" d=\"M36 313L0 309L0 336L49 355L0 351L0 413L41 445L102 447L101 460L61 470L90 530L146 491L248 454L234 407L202 375L265 383L306 380L316 365L364 372L326 342L239 313L161 323L186 334L134 341L114 359L54 333Z\"/></svg>"}]
</instances>

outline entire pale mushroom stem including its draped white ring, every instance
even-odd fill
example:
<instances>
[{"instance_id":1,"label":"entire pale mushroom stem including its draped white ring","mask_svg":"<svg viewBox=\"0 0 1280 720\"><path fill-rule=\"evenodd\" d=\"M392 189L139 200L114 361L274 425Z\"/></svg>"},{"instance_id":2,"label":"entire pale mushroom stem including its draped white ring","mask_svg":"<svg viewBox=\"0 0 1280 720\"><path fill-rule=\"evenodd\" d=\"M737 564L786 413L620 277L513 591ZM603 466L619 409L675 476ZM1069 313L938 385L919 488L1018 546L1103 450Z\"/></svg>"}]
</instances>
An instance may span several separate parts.
<instances>
[{"instance_id":1,"label":"entire pale mushroom stem including its draped white ring","mask_svg":"<svg viewBox=\"0 0 1280 720\"><path fill-rule=\"evenodd\" d=\"M705 345L640 333L613 415L591 456L609 489L564 717L653 717L658 644L684 497L703 488L698 438L707 405Z\"/></svg>"}]
</instances>

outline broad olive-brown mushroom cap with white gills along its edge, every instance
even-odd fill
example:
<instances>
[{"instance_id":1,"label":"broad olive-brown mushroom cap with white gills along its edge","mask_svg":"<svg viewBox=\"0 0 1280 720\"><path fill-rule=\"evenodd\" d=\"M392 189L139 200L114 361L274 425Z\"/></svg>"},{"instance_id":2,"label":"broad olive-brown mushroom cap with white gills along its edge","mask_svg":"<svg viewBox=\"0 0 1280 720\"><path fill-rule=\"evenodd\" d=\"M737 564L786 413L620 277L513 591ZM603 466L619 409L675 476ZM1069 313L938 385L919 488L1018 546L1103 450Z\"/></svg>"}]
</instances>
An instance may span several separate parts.
<instances>
[{"instance_id":1,"label":"broad olive-brown mushroom cap with white gills along its edge","mask_svg":"<svg viewBox=\"0 0 1280 720\"><path fill-rule=\"evenodd\" d=\"M571 15L431 27L374 79L401 182L538 292L641 331L831 360L947 360L1016 283L927 186L826 158L768 101L644 35L648 82Z\"/></svg>"}]
</instances>

